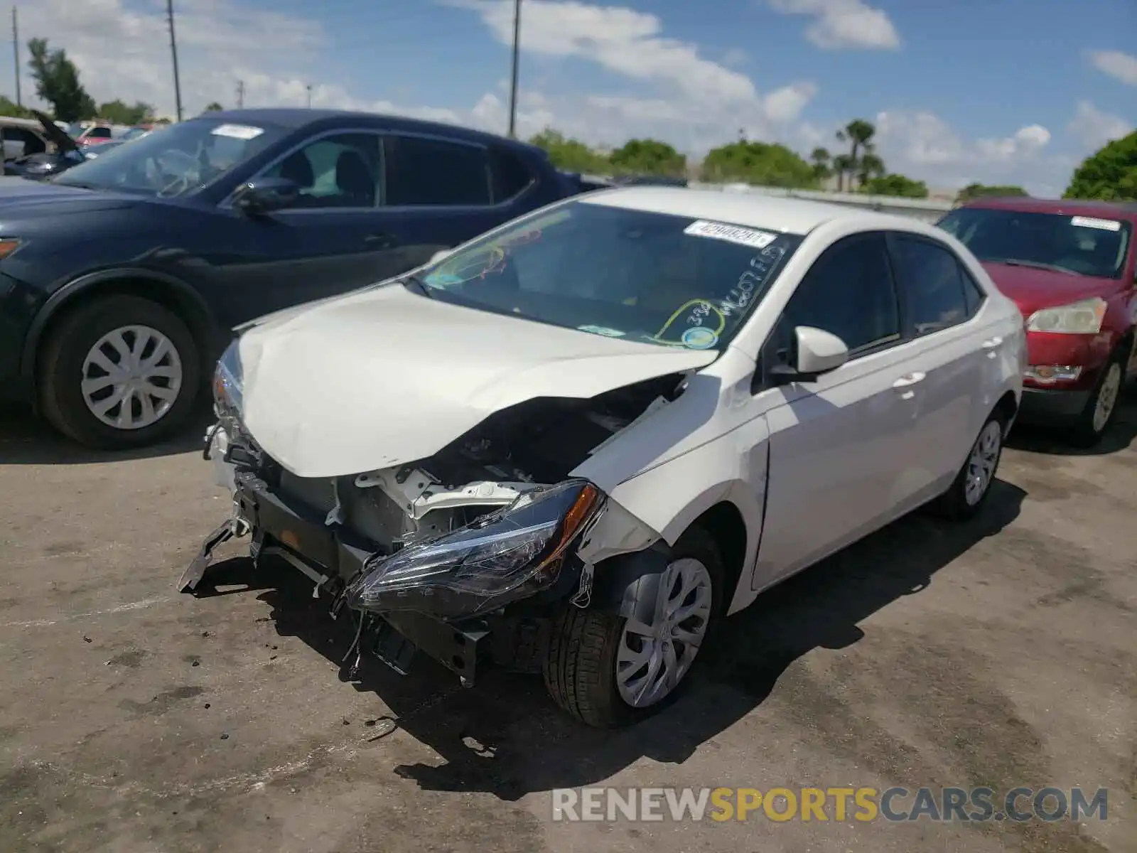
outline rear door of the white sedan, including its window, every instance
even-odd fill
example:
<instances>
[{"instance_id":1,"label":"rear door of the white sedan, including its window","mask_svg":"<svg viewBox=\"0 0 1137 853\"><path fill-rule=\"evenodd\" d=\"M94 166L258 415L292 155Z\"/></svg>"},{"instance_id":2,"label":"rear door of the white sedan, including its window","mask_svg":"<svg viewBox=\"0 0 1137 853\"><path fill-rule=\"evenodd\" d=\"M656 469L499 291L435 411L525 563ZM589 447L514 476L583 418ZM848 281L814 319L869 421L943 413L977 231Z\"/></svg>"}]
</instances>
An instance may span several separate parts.
<instances>
[{"instance_id":1,"label":"rear door of the white sedan, including its window","mask_svg":"<svg viewBox=\"0 0 1137 853\"><path fill-rule=\"evenodd\" d=\"M995 407L986 389L999 383L987 373L988 366L997 368L1004 341L998 318L982 310L982 289L952 249L920 234L891 232L888 250L919 376L910 390L923 448L910 459L907 486L930 498L951 485Z\"/></svg>"}]
</instances>

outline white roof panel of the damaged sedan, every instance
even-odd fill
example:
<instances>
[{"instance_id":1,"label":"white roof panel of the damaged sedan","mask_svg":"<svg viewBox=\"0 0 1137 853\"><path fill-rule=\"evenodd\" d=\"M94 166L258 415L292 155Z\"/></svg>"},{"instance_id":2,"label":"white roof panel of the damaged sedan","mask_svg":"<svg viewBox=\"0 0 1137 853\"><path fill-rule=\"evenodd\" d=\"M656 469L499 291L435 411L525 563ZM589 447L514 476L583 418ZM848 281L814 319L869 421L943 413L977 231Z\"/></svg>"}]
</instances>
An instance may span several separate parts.
<instances>
[{"instance_id":1,"label":"white roof panel of the damaged sedan","mask_svg":"<svg viewBox=\"0 0 1137 853\"><path fill-rule=\"evenodd\" d=\"M688 190L672 187L621 187L596 190L578 200L623 207L646 213L716 220L755 229L777 229L782 233L807 234L832 220L854 221L864 230L887 229L923 232L924 223L908 216L877 213L849 205L831 205L780 196Z\"/></svg>"}]
</instances>

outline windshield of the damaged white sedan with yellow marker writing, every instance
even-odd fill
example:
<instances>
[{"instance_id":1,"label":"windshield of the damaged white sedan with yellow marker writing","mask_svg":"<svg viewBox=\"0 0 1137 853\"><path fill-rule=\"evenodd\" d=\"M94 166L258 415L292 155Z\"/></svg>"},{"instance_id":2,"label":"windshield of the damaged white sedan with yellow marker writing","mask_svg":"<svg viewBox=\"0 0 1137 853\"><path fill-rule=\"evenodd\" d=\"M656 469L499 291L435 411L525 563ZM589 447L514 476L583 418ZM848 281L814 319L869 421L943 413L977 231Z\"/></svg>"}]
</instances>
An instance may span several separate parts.
<instances>
[{"instance_id":1,"label":"windshield of the damaged white sedan with yellow marker writing","mask_svg":"<svg viewBox=\"0 0 1137 853\"><path fill-rule=\"evenodd\" d=\"M453 301L659 346L725 345L802 238L583 200L531 214L412 283Z\"/></svg>"}]
</instances>

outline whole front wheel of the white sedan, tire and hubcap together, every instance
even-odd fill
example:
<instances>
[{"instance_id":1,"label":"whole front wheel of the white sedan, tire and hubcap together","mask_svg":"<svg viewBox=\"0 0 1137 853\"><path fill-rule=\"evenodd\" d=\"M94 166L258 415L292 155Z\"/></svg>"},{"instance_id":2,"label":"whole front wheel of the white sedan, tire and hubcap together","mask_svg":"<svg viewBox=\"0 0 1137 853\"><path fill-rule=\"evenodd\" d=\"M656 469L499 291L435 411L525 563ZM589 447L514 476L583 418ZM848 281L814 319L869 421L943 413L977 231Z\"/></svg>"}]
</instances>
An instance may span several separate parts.
<instances>
[{"instance_id":1,"label":"whole front wheel of the white sedan, tire and hubcap together","mask_svg":"<svg viewBox=\"0 0 1137 853\"><path fill-rule=\"evenodd\" d=\"M666 569L638 589L637 615L566 605L553 630L545 685L578 720L599 728L636 722L678 695L720 611L722 557L704 530L675 544ZM657 581L657 582L655 582Z\"/></svg>"}]
</instances>

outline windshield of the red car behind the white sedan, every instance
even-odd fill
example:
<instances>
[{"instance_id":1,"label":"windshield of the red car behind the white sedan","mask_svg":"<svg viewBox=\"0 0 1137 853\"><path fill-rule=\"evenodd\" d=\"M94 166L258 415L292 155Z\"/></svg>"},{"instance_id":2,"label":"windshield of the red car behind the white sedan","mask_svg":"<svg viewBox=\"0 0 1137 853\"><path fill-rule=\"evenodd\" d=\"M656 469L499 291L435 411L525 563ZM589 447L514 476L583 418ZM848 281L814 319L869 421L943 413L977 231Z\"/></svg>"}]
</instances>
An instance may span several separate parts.
<instances>
[{"instance_id":1,"label":"windshield of the red car behind the white sedan","mask_svg":"<svg viewBox=\"0 0 1137 853\"><path fill-rule=\"evenodd\" d=\"M1117 279L1131 227L1096 216L961 207L939 226L980 260Z\"/></svg>"}]
</instances>

